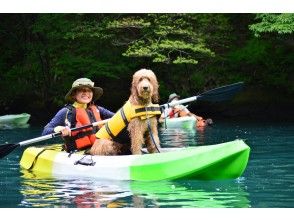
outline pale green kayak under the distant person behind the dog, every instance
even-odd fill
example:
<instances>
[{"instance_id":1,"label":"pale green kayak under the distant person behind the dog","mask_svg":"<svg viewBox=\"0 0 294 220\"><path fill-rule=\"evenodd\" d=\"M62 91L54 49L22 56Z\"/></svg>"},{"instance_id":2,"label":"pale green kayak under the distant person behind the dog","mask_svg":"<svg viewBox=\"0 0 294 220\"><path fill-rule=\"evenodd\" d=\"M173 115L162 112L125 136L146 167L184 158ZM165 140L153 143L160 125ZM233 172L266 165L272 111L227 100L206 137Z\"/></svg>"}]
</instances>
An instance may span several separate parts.
<instances>
[{"instance_id":1,"label":"pale green kayak under the distant person behind the dog","mask_svg":"<svg viewBox=\"0 0 294 220\"><path fill-rule=\"evenodd\" d=\"M192 116L184 116L178 118L167 118L162 123L166 128L183 128L183 129L195 129L196 118Z\"/></svg>"}]
</instances>

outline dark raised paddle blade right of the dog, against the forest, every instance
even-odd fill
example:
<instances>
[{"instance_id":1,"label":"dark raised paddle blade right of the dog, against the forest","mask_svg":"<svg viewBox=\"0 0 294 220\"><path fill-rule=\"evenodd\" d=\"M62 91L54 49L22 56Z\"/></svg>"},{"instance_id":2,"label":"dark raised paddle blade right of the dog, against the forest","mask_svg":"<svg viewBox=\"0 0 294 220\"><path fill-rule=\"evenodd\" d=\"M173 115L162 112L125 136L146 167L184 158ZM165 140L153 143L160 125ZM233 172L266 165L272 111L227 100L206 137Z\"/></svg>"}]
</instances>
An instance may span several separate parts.
<instances>
[{"instance_id":1,"label":"dark raised paddle blade right of the dog, against the forest","mask_svg":"<svg viewBox=\"0 0 294 220\"><path fill-rule=\"evenodd\" d=\"M216 89L212 89L200 94L197 100L208 102L222 102L233 98L244 86L244 82L238 82Z\"/></svg>"}]
</instances>

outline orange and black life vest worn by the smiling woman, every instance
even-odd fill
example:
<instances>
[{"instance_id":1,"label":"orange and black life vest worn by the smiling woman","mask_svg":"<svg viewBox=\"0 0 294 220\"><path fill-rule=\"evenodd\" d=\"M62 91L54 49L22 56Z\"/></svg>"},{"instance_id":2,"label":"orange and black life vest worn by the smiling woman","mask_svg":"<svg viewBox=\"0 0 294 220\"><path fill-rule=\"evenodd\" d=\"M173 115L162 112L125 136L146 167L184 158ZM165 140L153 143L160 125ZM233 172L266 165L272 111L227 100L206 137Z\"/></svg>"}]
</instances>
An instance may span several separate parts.
<instances>
[{"instance_id":1,"label":"orange and black life vest worn by the smiling woman","mask_svg":"<svg viewBox=\"0 0 294 220\"><path fill-rule=\"evenodd\" d=\"M71 127L81 127L101 121L99 109L95 105L89 106L87 109L71 107ZM100 126L99 126L100 128ZM71 133L70 137L65 138L65 148L67 151L83 150L91 147L95 140L96 128L86 128Z\"/></svg>"}]
</instances>

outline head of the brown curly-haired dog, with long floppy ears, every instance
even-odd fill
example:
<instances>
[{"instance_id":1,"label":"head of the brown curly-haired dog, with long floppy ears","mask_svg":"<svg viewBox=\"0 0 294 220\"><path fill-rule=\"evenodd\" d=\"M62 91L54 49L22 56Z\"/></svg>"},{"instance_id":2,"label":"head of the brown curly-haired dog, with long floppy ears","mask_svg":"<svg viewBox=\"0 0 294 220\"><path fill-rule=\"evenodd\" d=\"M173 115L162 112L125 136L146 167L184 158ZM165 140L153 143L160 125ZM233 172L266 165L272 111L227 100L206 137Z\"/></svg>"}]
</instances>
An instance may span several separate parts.
<instances>
[{"instance_id":1,"label":"head of the brown curly-haired dog, with long floppy ears","mask_svg":"<svg viewBox=\"0 0 294 220\"><path fill-rule=\"evenodd\" d=\"M158 87L156 75L151 70L141 69L133 75L131 93L144 104L159 101Z\"/></svg>"}]
</instances>

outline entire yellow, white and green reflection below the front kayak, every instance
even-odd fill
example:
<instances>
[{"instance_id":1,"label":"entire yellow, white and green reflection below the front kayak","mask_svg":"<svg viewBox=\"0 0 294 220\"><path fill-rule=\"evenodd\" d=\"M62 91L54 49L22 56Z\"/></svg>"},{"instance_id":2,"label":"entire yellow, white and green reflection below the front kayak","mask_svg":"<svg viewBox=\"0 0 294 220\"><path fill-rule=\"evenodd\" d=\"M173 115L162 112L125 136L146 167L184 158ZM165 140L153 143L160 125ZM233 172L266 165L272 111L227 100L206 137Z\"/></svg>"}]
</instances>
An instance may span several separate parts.
<instances>
[{"instance_id":1,"label":"entire yellow, white and green reflection below the front kayak","mask_svg":"<svg viewBox=\"0 0 294 220\"><path fill-rule=\"evenodd\" d=\"M54 179L24 171L21 207L250 207L241 179L230 181L101 181Z\"/></svg>"}]
</instances>

